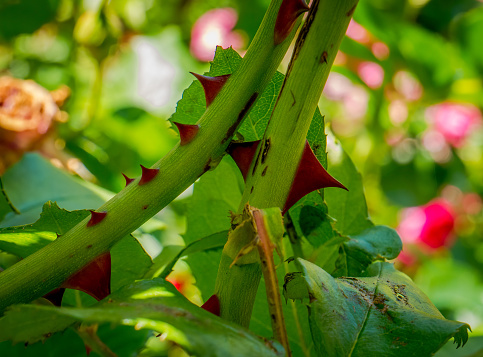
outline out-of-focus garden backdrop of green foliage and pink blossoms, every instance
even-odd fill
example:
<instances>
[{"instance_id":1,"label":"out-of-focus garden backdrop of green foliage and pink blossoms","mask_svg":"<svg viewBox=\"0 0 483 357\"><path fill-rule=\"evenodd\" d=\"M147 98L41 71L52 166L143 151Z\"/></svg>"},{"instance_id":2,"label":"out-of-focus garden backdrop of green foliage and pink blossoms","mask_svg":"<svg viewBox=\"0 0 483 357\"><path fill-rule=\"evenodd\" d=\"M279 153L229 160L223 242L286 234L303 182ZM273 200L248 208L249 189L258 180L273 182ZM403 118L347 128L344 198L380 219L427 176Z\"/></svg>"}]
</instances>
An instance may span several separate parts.
<instances>
[{"instance_id":1,"label":"out-of-focus garden backdrop of green foliage and pink blossoms","mask_svg":"<svg viewBox=\"0 0 483 357\"><path fill-rule=\"evenodd\" d=\"M243 55L268 4L0 1L0 175L38 151L119 191L120 171L136 176L176 143L167 119L189 71L207 71L216 45ZM473 328L480 347L438 356L483 346L482 36L481 1L360 0L319 103L362 174L372 220L404 242L398 267ZM34 92L51 95L40 114L3 115ZM173 278L180 289L189 279Z\"/></svg>"}]
</instances>

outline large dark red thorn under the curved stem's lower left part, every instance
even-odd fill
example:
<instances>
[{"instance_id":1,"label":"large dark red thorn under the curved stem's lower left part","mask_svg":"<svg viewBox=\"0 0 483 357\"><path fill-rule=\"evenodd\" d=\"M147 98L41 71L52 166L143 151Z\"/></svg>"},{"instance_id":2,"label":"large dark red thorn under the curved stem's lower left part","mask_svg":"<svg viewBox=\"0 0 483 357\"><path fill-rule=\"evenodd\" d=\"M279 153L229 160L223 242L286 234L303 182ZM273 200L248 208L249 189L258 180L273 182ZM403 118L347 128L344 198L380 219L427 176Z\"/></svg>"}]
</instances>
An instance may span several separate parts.
<instances>
[{"instance_id":1,"label":"large dark red thorn under the curved stem's lower left part","mask_svg":"<svg viewBox=\"0 0 483 357\"><path fill-rule=\"evenodd\" d=\"M83 291L96 300L102 300L111 293L111 253L107 252L70 276L62 288Z\"/></svg>"}]
</instances>

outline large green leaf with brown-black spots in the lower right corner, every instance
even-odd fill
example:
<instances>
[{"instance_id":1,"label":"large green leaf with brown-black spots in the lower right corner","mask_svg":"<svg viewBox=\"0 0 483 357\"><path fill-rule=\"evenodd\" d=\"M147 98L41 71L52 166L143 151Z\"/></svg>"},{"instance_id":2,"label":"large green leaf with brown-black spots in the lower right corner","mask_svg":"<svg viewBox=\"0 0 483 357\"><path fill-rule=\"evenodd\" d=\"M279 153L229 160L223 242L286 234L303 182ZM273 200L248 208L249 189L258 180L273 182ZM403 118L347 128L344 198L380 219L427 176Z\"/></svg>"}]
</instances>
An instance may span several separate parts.
<instances>
[{"instance_id":1,"label":"large green leaf with brown-black spots in the lower right corner","mask_svg":"<svg viewBox=\"0 0 483 357\"><path fill-rule=\"evenodd\" d=\"M374 263L367 277L335 279L308 261L298 263L303 275L293 281L306 281L319 355L430 356L451 337L458 347L468 339L468 324L446 320L392 264Z\"/></svg>"}]
</instances>

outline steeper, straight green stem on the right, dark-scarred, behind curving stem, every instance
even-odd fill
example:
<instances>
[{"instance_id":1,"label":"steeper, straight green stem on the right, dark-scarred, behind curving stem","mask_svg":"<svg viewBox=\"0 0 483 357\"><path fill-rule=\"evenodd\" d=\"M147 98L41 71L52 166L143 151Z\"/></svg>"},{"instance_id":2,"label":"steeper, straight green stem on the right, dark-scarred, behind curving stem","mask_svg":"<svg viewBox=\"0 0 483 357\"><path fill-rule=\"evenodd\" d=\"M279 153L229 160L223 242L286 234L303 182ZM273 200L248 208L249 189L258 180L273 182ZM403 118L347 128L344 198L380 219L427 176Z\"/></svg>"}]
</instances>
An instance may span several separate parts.
<instances>
[{"instance_id":1,"label":"steeper, straight green stem on the right, dark-scarred, behind curving stem","mask_svg":"<svg viewBox=\"0 0 483 357\"><path fill-rule=\"evenodd\" d=\"M310 122L347 30L357 0L315 0L304 24L264 138L256 159L246 178L240 210L248 202L256 208L284 207L302 156ZM232 243L234 245L234 243ZM223 254L226 253L226 247ZM251 254L256 254L253 252ZM245 277L230 276L230 261L222 259L218 271L216 293L220 299L221 316L248 326L251 310L233 313L236 300L245 301L254 296L261 278L255 266ZM246 282L250 281L250 285ZM224 286L228 284L229 286ZM225 291L236 291L235 296L224 296Z\"/></svg>"}]
</instances>

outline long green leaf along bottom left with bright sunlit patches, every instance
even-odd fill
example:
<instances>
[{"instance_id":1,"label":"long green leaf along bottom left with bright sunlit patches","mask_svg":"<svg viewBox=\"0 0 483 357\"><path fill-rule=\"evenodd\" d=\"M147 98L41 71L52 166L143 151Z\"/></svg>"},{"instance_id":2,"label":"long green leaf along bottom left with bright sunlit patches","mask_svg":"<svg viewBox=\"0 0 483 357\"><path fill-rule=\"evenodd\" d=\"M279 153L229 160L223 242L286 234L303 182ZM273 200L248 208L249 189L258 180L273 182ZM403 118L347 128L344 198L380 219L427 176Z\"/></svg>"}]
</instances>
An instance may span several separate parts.
<instances>
[{"instance_id":1,"label":"long green leaf along bottom left with bright sunlit patches","mask_svg":"<svg viewBox=\"0 0 483 357\"><path fill-rule=\"evenodd\" d=\"M90 308L16 305L0 319L0 340L39 339L50 332L47 325L55 330L58 322L66 321L159 331L168 341L200 356L283 355L268 341L191 304L160 278L137 281Z\"/></svg>"}]
</instances>

